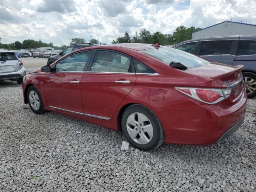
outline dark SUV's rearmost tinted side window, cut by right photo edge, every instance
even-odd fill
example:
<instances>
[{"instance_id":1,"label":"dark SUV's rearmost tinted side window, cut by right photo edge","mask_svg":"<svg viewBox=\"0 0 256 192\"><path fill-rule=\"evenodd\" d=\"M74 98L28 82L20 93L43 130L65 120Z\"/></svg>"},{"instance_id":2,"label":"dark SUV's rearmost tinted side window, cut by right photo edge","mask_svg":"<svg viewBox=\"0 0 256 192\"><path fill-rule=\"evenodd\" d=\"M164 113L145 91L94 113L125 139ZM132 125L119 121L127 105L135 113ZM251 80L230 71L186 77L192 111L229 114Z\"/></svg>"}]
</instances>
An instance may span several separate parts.
<instances>
[{"instance_id":1,"label":"dark SUV's rearmost tinted side window, cut by right photo edge","mask_svg":"<svg viewBox=\"0 0 256 192\"><path fill-rule=\"evenodd\" d=\"M256 55L256 41L240 40L237 55Z\"/></svg>"}]
</instances>

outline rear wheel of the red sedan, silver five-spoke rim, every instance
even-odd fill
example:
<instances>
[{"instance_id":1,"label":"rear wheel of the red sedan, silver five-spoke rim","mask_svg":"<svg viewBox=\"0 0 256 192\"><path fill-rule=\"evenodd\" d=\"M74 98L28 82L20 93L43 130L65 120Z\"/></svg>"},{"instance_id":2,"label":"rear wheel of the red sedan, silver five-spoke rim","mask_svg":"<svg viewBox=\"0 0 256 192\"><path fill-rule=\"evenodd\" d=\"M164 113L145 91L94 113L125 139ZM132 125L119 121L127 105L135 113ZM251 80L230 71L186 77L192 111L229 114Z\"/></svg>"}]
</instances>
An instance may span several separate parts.
<instances>
[{"instance_id":1,"label":"rear wheel of the red sedan, silver five-spoke rim","mask_svg":"<svg viewBox=\"0 0 256 192\"><path fill-rule=\"evenodd\" d=\"M164 142L162 124L152 111L139 104L124 111L122 131L128 142L139 150L153 150Z\"/></svg>"}]
</instances>

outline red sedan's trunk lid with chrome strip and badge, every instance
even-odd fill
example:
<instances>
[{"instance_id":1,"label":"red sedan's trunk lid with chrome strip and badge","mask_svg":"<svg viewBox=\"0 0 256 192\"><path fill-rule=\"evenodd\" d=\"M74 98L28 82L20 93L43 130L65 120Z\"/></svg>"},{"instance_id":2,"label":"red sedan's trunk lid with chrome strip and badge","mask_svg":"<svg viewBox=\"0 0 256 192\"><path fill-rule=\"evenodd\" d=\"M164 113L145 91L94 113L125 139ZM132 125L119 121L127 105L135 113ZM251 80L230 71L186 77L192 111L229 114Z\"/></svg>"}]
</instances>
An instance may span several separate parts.
<instances>
[{"instance_id":1,"label":"red sedan's trunk lid with chrome strip and badge","mask_svg":"<svg viewBox=\"0 0 256 192\"><path fill-rule=\"evenodd\" d=\"M243 65L230 66L220 63L211 63L184 72L211 78L215 80L221 88L232 89L229 98L232 102L236 102L242 96L243 92L242 67Z\"/></svg>"}]
</instances>

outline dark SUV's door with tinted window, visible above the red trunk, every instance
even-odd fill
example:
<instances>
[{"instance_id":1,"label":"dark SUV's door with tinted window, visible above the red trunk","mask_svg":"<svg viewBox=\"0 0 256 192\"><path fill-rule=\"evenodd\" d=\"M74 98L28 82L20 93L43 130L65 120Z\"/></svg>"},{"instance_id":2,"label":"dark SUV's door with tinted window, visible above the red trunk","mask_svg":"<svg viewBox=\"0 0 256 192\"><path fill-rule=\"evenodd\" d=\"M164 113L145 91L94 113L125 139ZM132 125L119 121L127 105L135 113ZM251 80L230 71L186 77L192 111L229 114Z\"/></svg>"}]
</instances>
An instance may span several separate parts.
<instances>
[{"instance_id":1,"label":"dark SUV's door with tinted window, visible above the red trunk","mask_svg":"<svg viewBox=\"0 0 256 192\"><path fill-rule=\"evenodd\" d=\"M199 56L232 65L236 58L237 45L238 40L203 40L199 43Z\"/></svg>"}]
</instances>

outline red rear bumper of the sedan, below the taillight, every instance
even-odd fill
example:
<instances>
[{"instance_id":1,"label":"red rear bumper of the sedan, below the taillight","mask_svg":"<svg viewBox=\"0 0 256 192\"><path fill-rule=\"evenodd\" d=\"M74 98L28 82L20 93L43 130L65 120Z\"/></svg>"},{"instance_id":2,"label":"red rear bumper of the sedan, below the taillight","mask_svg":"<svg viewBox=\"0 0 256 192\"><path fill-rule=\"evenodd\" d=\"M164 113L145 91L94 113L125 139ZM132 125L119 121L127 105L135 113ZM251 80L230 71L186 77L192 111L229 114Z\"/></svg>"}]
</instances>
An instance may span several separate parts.
<instances>
[{"instance_id":1,"label":"red rear bumper of the sedan, below the taillight","mask_svg":"<svg viewBox=\"0 0 256 192\"><path fill-rule=\"evenodd\" d=\"M225 102L225 101L223 101ZM154 109L169 144L210 145L234 133L244 121L247 96L232 106L189 103L185 110Z\"/></svg>"}]
</instances>

